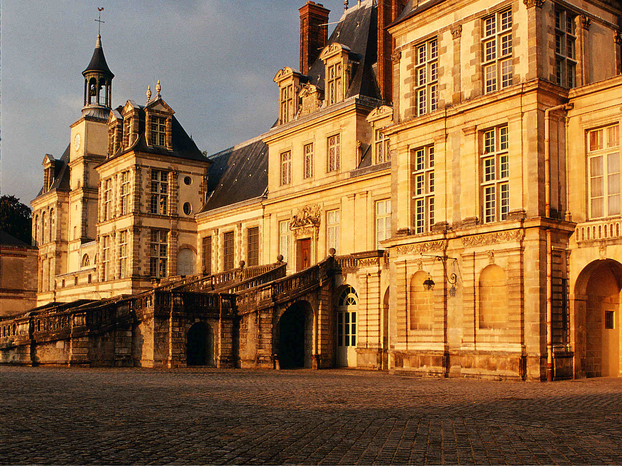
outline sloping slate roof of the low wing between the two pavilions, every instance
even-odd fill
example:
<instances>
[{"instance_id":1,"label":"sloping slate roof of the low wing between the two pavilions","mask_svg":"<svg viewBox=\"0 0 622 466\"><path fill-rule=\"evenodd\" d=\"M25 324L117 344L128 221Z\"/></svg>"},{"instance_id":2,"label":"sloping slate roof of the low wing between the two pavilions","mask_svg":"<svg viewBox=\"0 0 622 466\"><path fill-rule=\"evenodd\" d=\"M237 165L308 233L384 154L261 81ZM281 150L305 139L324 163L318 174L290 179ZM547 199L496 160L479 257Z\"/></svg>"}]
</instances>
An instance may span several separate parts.
<instances>
[{"instance_id":1,"label":"sloping slate roof of the low wing between the two pavilions","mask_svg":"<svg viewBox=\"0 0 622 466\"><path fill-rule=\"evenodd\" d=\"M258 198L268 186L268 146L261 139L218 152L210 157L207 203L201 212Z\"/></svg>"}]
</instances>

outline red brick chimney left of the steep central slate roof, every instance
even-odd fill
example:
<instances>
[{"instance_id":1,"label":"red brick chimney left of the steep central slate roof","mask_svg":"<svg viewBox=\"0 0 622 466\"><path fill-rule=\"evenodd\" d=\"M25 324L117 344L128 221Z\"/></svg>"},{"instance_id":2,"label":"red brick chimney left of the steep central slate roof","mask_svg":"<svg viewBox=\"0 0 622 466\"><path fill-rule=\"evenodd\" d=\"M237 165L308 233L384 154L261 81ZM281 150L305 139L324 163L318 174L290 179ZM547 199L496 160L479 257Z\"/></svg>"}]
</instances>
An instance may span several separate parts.
<instances>
[{"instance_id":1,"label":"red brick chimney left of the steep central slate roof","mask_svg":"<svg viewBox=\"0 0 622 466\"><path fill-rule=\"evenodd\" d=\"M320 56L328 42L328 13L321 3L307 1L300 11L300 71L309 73L309 68Z\"/></svg>"}]
</instances>

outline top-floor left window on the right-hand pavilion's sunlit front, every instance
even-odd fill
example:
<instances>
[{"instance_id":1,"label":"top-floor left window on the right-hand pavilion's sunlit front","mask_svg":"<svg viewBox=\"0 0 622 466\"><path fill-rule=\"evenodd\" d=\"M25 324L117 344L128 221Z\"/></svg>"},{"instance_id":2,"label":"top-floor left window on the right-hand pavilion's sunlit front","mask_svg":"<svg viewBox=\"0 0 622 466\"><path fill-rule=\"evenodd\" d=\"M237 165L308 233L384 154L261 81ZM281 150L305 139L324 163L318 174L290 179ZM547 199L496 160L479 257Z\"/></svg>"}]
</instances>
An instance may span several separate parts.
<instances>
[{"instance_id":1,"label":"top-floor left window on the right-hand pavilion's sunlit front","mask_svg":"<svg viewBox=\"0 0 622 466\"><path fill-rule=\"evenodd\" d=\"M433 112L439 107L439 43L436 39L416 47L417 115Z\"/></svg>"}]
</instances>

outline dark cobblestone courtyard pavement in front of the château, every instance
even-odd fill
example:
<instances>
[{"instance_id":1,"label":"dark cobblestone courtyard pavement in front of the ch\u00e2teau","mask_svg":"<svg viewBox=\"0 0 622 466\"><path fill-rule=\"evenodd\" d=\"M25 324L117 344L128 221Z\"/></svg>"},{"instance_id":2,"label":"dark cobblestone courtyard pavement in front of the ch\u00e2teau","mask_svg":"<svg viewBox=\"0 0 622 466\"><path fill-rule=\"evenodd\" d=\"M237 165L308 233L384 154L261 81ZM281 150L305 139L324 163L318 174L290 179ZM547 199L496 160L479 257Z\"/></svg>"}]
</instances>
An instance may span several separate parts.
<instances>
[{"instance_id":1,"label":"dark cobblestone courtyard pavement in front of the ch\u00e2teau","mask_svg":"<svg viewBox=\"0 0 622 466\"><path fill-rule=\"evenodd\" d=\"M1 464L622 463L622 378L0 371Z\"/></svg>"}]
</instances>

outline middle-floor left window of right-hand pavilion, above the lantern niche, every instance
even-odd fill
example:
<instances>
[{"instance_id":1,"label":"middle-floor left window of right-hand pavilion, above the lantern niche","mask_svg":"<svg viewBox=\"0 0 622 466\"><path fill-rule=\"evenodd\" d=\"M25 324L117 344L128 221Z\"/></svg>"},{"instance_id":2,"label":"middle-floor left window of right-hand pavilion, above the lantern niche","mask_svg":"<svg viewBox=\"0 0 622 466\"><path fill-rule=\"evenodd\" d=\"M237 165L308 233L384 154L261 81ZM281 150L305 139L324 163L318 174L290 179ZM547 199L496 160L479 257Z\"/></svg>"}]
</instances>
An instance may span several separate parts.
<instances>
[{"instance_id":1,"label":"middle-floor left window of right-hand pavilion, above the lantern niche","mask_svg":"<svg viewBox=\"0 0 622 466\"><path fill-rule=\"evenodd\" d=\"M434 146L414 151L412 182L414 186L415 234L430 231L434 225Z\"/></svg>"}]
</instances>

